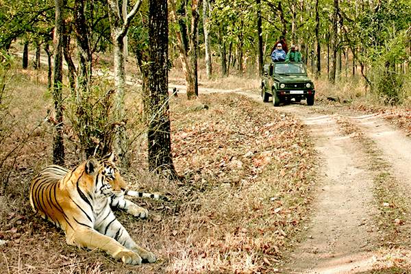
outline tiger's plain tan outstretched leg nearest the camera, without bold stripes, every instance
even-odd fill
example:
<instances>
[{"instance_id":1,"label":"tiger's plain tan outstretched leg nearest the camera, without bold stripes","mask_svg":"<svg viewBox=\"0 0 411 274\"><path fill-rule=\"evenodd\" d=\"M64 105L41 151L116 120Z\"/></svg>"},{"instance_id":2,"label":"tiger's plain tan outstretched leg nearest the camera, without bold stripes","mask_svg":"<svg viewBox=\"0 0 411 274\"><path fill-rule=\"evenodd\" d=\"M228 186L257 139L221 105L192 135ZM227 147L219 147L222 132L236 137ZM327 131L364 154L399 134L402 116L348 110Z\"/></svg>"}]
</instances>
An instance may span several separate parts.
<instances>
[{"instance_id":1,"label":"tiger's plain tan outstretched leg nearest the camera, without bold stripes","mask_svg":"<svg viewBox=\"0 0 411 274\"><path fill-rule=\"evenodd\" d=\"M121 260L125 264L141 264L142 258L138 252L123 247L119 242L109 236L100 234L89 227L75 227L66 232L66 241L69 245L86 247L88 249L102 249L114 259Z\"/></svg>"}]
</instances>

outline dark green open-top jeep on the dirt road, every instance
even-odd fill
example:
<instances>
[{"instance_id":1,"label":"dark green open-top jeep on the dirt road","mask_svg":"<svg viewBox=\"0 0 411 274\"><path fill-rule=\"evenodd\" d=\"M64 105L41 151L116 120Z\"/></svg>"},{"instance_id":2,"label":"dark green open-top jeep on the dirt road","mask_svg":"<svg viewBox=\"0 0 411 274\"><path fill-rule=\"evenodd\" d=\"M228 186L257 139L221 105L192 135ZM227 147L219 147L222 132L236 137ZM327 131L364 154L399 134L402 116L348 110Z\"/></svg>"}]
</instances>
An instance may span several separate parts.
<instances>
[{"instance_id":1,"label":"dark green open-top jeep on the dirt road","mask_svg":"<svg viewBox=\"0 0 411 274\"><path fill-rule=\"evenodd\" d=\"M302 62L274 62L264 64L261 81L262 101L268 102L273 97L273 105L307 100L307 105L314 105L314 84L307 75L306 65Z\"/></svg>"}]
</instances>

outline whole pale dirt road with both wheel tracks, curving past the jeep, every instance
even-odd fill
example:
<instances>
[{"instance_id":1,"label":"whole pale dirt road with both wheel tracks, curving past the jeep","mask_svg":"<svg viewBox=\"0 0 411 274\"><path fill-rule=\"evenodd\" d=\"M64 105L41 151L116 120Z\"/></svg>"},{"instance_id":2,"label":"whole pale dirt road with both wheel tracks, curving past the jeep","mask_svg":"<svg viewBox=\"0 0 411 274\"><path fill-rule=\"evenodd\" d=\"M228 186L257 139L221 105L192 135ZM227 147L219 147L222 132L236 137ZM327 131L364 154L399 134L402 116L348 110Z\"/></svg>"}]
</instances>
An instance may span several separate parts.
<instances>
[{"instance_id":1,"label":"whole pale dirt road with both wheel tracks, curving past the jeep","mask_svg":"<svg viewBox=\"0 0 411 274\"><path fill-rule=\"evenodd\" d=\"M240 93L262 102L257 92ZM375 144L406 199L411 199L411 138L375 114L321 104L308 107L304 101L273 109L306 124L322 159L310 224L286 255L288 263L281 272L372 273L381 246L375 225L381 206L373 192L375 171L369 152L354 138L358 132L345 133L339 121L348 121Z\"/></svg>"}]
</instances>

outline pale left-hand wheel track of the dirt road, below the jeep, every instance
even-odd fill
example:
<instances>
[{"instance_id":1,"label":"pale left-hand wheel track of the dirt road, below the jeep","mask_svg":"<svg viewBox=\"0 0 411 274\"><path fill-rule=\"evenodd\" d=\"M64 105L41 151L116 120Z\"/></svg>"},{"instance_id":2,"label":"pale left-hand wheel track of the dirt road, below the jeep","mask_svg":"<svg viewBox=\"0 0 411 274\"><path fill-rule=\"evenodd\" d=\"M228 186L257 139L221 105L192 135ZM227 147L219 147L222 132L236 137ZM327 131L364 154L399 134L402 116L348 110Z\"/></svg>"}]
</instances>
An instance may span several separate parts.
<instances>
[{"instance_id":1,"label":"pale left-hand wheel track of the dirt road, below the jeep","mask_svg":"<svg viewBox=\"0 0 411 274\"><path fill-rule=\"evenodd\" d=\"M308 127L323 163L321 188L303 240L290 253L286 273L358 273L373 268L373 175L366 155L341 132L334 115L310 113L301 105L283 110ZM303 112L303 113L301 113Z\"/></svg>"}]
</instances>

